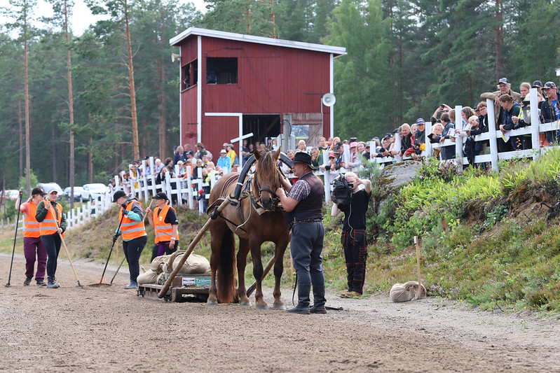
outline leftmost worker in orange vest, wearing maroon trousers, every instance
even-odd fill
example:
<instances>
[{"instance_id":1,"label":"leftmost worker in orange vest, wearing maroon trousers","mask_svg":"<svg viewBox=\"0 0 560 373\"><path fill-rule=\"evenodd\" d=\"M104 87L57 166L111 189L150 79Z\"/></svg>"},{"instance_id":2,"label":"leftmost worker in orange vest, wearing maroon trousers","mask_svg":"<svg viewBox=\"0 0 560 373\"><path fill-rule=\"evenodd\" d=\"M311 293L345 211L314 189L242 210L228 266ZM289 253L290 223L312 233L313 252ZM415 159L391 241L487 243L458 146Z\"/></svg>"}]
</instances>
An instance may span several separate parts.
<instances>
[{"instance_id":1,"label":"leftmost worker in orange vest, wearing maroon trousers","mask_svg":"<svg viewBox=\"0 0 560 373\"><path fill-rule=\"evenodd\" d=\"M46 195L41 188L33 188L31 198L20 205L20 199L15 203L15 208L20 209L24 215L23 220L23 255L25 255L25 281L23 285L29 286L35 273L37 286L46 286L45 271L47 266L47 251L41 242L39 222L35 218L37 206ZM37 261L37 272L35 271Z\"/></svg>"}]
</instances>

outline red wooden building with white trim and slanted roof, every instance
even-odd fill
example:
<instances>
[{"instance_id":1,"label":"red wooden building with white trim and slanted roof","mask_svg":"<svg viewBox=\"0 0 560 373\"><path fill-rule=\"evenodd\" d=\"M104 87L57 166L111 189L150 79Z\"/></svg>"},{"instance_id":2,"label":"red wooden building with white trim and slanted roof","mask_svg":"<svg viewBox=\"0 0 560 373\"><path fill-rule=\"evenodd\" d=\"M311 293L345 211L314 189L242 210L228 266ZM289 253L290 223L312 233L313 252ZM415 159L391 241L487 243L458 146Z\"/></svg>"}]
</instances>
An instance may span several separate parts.
<instances>
[{"instance_id":1,"label":"red wooden building with white trim and slanted roof","mask_svg":"<svg viewBox=\"0 0 560 373\"><path fill-rule=\"evenodd\" d=\"M224 142L239 148L278 136L288 120L296 137L333 134L333 59L346 48L190 28L170 40L181 64L181 141L205 144L214 160ZM194 147L193 147L194 149Z\"/></svg>"}]
</instances>

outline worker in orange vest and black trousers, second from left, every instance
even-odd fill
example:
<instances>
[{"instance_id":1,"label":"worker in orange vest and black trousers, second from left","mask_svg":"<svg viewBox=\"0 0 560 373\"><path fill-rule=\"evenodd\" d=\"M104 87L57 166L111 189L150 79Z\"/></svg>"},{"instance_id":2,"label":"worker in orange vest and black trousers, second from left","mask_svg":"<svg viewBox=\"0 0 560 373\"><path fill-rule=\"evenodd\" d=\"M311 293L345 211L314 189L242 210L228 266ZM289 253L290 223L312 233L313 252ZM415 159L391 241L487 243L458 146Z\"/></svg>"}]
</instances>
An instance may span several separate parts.
<instances>
[{"instance_id":1,"label":"worker in orange vest and black trousers, second from left","mask_svg":"<svg viewBox=\"0 0 560 373\"><path fill-rule=\"evenodd\" d=\"M66 217L62 215L62 205L56 202L57 197L58 191L50 190L46 198L37 205L35 214L39 222L41 242L47 251L47 288L50 289L60 287L56 282L55 274L62 237L66 230Z\"/></svg>"}]
</instances>

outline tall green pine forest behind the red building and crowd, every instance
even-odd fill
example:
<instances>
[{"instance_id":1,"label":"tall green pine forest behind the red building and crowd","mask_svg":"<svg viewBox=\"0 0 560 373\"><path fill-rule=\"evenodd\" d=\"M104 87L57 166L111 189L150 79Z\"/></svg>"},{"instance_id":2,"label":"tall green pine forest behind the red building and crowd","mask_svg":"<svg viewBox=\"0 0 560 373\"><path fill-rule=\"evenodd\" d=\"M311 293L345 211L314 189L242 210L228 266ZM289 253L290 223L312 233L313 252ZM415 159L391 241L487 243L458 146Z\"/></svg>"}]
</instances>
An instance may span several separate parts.
<instances>
[{"instance_id":1,"label":"tall green pine forest behind the red building and crowd","mask_svg":"<svg viewBox=\"0 0 560 373\"><path fill-rule=\"evenodd\" d=\"M382 136L443 103L474 106L503 76L516 91L524 81L558 83L554 0L212 0L205 14L178 0L88 0L107 20L80 36L66 22L73 3L48 1L54 16L41 23L36 0L0 8L9 20L0 29L8 189L26 169L63 187L107 183L132 160L172 155L179 69L169 39L191 26L345 47L334 66L343 138Z\"/></svg>"}]
</instances>

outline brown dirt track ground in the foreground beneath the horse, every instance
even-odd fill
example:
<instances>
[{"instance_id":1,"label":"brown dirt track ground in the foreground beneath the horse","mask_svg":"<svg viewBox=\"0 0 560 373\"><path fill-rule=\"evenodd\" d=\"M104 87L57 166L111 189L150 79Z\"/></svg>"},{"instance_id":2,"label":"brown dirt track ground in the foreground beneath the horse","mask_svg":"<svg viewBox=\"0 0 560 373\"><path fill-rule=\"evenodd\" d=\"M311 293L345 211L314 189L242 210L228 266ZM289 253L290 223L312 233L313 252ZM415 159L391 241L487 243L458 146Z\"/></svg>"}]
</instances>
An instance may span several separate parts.
<instances>
[{"instance_id":1,"label":"brown dirt track ground in the foreground beneath the horse","mask_svg":"<svg viewBox=\"0 0 560 373\"><path fill-rule=\"evenodd\" d=\"M7 283L10 255L0 254ZM59 260L59 289L24 287L15 255L0 286L0 371L6 372L560 372L560 321L477 311L428 297L341 299L326 315L137 297L128 271L111 287L78 288ZM75 261L81 284L103 265ZM109 267L104 282L114 274ZM292 292L282 299L291 304ZM272 290L265 290L272 303Z\"/></svg>"}]
</instances>

